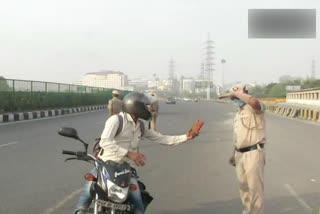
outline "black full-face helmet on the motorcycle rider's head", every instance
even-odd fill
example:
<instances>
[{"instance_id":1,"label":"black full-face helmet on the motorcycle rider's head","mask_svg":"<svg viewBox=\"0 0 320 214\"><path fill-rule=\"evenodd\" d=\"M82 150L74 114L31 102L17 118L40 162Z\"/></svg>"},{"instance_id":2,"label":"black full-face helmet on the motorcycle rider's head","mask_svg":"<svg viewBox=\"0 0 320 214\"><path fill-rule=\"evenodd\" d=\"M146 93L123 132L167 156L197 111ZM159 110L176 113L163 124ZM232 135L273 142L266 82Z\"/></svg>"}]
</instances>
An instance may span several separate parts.
<instances>
[{"instance_id":1,"label":"black full-face helmet on the motorcycle rider's head","mask_svg":"<svg viewBox=\"0 0 320 214\"><path fill-rule=\"evenodd\" d=\"M151 118L151 113L148 110L148 105L150 104L151 102L146 95L138 92L131 92L123 98L123 111L141 119L149 120Z\"/></svg>"}]
</instances>

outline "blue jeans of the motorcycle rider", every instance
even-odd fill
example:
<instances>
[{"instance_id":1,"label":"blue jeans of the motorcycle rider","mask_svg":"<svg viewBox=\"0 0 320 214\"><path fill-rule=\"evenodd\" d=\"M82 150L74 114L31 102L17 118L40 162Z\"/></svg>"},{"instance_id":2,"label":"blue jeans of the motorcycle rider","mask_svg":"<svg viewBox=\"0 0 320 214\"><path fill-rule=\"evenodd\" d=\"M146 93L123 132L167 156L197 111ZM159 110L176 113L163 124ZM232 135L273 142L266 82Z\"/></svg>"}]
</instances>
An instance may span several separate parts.
<instances>
[{"instance_id":1,"label":"blue jeans of the motorcycle rider","mask_svg":"<svg viewBox=\"0 0 320 214\"><path fill-rule=\"evenodd\" d=\"M91 174L97 176L97 169L94 168L90 172ZM139 189L139 185L137 182L136 177L132 177L130 179L131 184L135 184L138 186L138 189L134 192L130 192L129 199L134 205L134 214L144 214L144 205L142 203L142 198L141 198L141 192ZM74 213L76 213L79 210L85 210L90 207L90 204L92 202L92 198L90 196L90 187L91 187L92 181L87 181L83 187L83 190L80 195L80 199L76 205Z\"/></svg>"}]
</instances>

